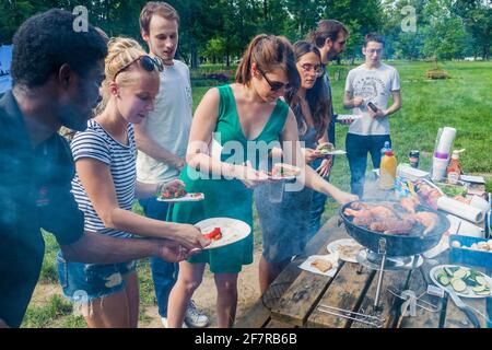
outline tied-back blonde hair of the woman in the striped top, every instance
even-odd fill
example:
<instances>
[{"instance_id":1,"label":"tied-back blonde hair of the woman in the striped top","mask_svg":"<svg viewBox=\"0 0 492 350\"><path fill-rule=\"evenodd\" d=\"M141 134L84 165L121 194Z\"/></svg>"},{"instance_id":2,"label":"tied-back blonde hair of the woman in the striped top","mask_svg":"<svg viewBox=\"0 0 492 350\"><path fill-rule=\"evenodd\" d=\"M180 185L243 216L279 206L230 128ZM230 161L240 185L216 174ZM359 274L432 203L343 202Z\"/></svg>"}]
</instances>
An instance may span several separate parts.
<instances>
[{"instance_id":1,"label":"tied-back blonde hair of the woman in the striped top","mask_svg":"<svg viewBox=\"0 0 492 350\"><path fill-rule=\"evenodd\" d=\"M131 61L137 60L139 57L147 55L140 44L131 38L127 37L114 37L108 43L108 55L105 60L105 74L106 78L101 86L102 102L97 105L96 114L99 114L106 108L106 105L110 98L109 84L115 81L115 75L125 66L128 66ZM155 74L159 77L156 70ZM124 70L118 73L117 82L119 86L129 85L137 81L137 77L132 74L131 70Z\"/></svg>"}]
</instances>

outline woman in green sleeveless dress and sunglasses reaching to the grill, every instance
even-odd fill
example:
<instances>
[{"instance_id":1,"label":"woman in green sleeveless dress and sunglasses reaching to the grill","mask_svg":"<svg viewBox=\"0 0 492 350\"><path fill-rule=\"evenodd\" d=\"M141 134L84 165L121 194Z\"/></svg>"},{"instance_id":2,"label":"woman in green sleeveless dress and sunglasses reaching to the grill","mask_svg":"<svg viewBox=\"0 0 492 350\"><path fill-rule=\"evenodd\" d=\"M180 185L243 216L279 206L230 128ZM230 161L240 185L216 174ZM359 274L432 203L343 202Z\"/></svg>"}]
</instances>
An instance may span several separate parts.
<instances>
[{"instance_id":1,"label":"woman in green sleeveless dress and sunglasses reaching to the grill","mask_svg":"<svg viewBox=\"0 0 492 350\"><path fill-rule=\"evenodd\" d=\"M175 205L175 222L197 223L215 217L238 219L253 228L251 188L268 182L259 154L283 144L284 160L302 168L305 185L339 201L352 196L325 182L305 166L297 137L297 122L280 97L286 85L300 85L292 45L284 37L258 35L249 44L236 73L236 82L211 89L194 117L181 180L189 192L203 192L202 202ZM219 143L221 155L210 155ZM289 148L289 149L286 149ZM260 151L258 151L260 150ZM297 163L298 160L298 163ZM265 161L265 160L260 160ZM204 176L209 175L209 176ZM179 264L179 276L168 302L168 327L180 327L186 305L200 285L206 264L218 289L218 326L231 327L237 306L237 276L253 262L253 234L222 248L203 250Z\"/></svg>"}]
</instances>

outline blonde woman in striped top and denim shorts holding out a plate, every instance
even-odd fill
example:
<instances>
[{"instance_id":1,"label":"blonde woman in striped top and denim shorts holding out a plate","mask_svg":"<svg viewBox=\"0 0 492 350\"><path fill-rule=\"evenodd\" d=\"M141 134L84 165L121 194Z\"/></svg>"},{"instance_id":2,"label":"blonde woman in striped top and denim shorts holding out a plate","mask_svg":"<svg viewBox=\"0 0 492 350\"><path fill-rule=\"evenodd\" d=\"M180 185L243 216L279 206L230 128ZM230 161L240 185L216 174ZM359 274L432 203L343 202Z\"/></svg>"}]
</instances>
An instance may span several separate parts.
<instances>
[{"instance_id":1,"label":"blonde woman in striped top and denim shorts holding out a plate","mask_svg":"<svg viewBox=\"0 0 492 350\"><path fill-rule=\"evenodd\" d=\"M132 125L153 109L160 62L129 38L112 39L108 51L97 116L71 143L77 167L72 191L85 215L84 229L122 238L133 234L169 238L183 248L185 257L208 244L198 229L131 212L134 198L176 186L176 182L140 184L136 176ZM81 306L90 327L137 327L139 287L133 261L86 265L67 262L59 254L58 270L63 294Z\"/></svg>"}]
</instances>

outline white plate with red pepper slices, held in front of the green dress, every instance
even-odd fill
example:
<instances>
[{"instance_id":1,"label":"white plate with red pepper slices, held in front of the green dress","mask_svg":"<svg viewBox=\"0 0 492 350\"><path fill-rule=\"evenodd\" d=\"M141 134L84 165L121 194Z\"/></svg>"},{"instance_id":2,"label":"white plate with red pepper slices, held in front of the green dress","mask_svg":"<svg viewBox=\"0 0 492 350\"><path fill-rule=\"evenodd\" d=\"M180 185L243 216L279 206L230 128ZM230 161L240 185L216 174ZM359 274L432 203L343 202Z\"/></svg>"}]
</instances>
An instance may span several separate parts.
<instances>
[{"instance_id":1,"label":"white plate with red pepper slices, held in front of the green dress","mask_svg":"<svg viewBox=\"0 0 492 350\"><path fill-rule=\"evenodd\" d=\"M231 218L211 218L195 224L212 241L204 249L223 247L246 238L251 228L244 221Z\"/></svg>"}]
</instances>

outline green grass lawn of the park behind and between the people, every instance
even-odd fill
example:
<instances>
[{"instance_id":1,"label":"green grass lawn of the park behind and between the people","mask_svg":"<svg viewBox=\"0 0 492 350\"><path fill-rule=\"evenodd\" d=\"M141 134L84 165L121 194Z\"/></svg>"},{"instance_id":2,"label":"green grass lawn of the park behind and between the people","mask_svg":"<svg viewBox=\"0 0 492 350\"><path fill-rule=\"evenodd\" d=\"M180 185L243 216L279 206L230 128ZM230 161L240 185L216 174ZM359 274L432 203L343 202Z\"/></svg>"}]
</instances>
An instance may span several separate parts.
<instances>
[{"instance_id":1,"label":"green grass lawn of the park behind and between the people","mask_svg":"<svg viewBox=\"0 0 492 350\"><path fill-rule=\"evenodd\" d=\"M425 80L425 71L434 63L427 62L389 62L400 72L403 107L391 116L391 139L399 162L407 162L410 150L421 151L421 168L429 170L434 141L440 127L454 127L458 130L455 149L466 149L461 154L462 170L467 174L483 174L488 179L488 190L492 191L492 62L444 62L444 68L452 77L445 81ZM336 112L342 109L344 79L350 67L332 66L329 68L332 80ZM340 71L340 80L333 77ZM209 88L194 88L195 107ZM348 127L337 125L337 145L344 148ZM348 190L350 173L347 159L338 156L331 175L331 182ZM335 202L327 202L324 220L337 210ZM141 209L136 206L136 211ZM42 284L57 283L55 265L57 244L51 235L46 237L46 256L42 270ZM260 247L260 231L255 215L256 247ZM149 264L139 264L141 310L155 303ZM141 313L141 320L145 316ZM80 316L72 313L70 303L59 295L51 295L44 302L30 305L23 327L84 327Z\"/></svg>"}]
</instances>

